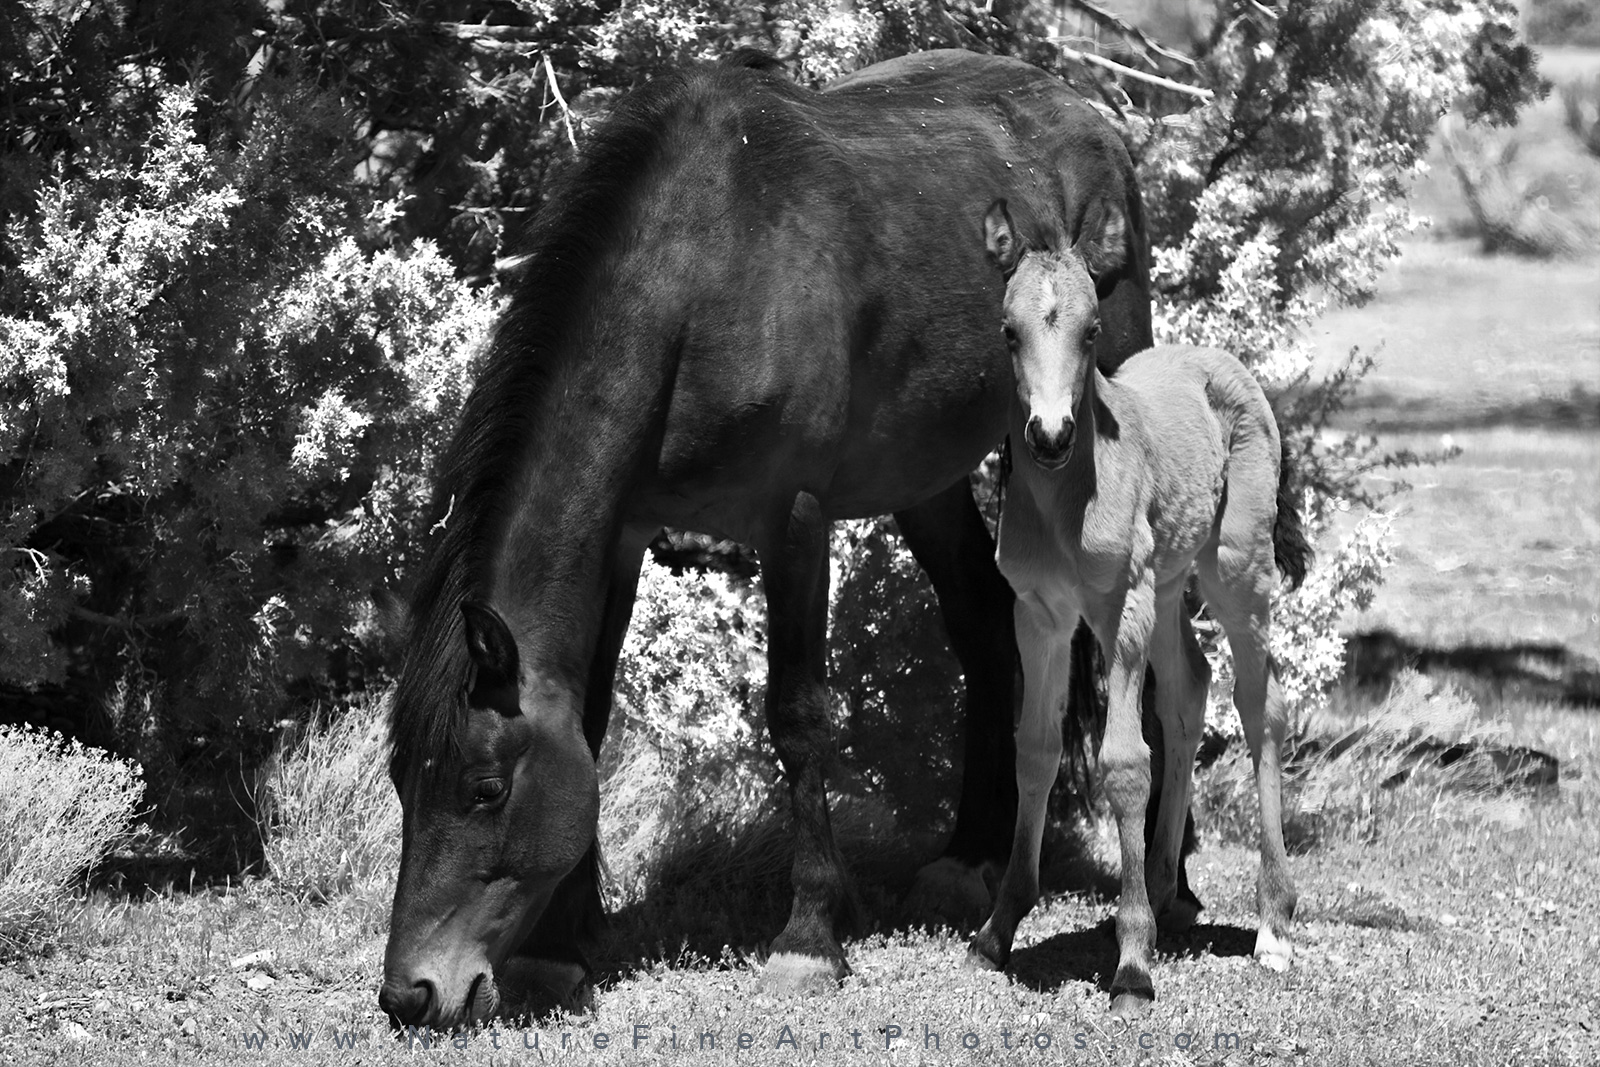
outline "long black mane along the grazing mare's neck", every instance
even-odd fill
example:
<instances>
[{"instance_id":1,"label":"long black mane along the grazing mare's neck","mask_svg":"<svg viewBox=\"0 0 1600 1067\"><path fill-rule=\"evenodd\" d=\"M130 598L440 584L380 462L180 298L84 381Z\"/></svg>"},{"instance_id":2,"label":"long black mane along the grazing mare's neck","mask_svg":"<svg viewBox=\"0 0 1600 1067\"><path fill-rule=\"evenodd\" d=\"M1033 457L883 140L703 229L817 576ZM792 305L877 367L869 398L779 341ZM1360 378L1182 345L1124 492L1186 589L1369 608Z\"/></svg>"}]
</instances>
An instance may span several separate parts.
<instances>
[{"instance_id":1,"label":"long black mane along the grazing mare's neck","mask_svg":"<svg viewBox=\"0 0 1600 1067\"><path fill-rule=\"evenodd\" d=\"M776 61L739 50L723 62L675 72L629 93L584 142L579 160L526 235L528 267L517 283L438 469L429 525L432 550L411 598L411 632L389 718L390 769L442 771L458 755L466 715L467 654L461 603L480 593L506 502L526 451L530 418L568 358L573 309L595 266L621 238L632 194L661 160L685 104L707 91L739 91Z\"/></svg>"}]
</instances>

